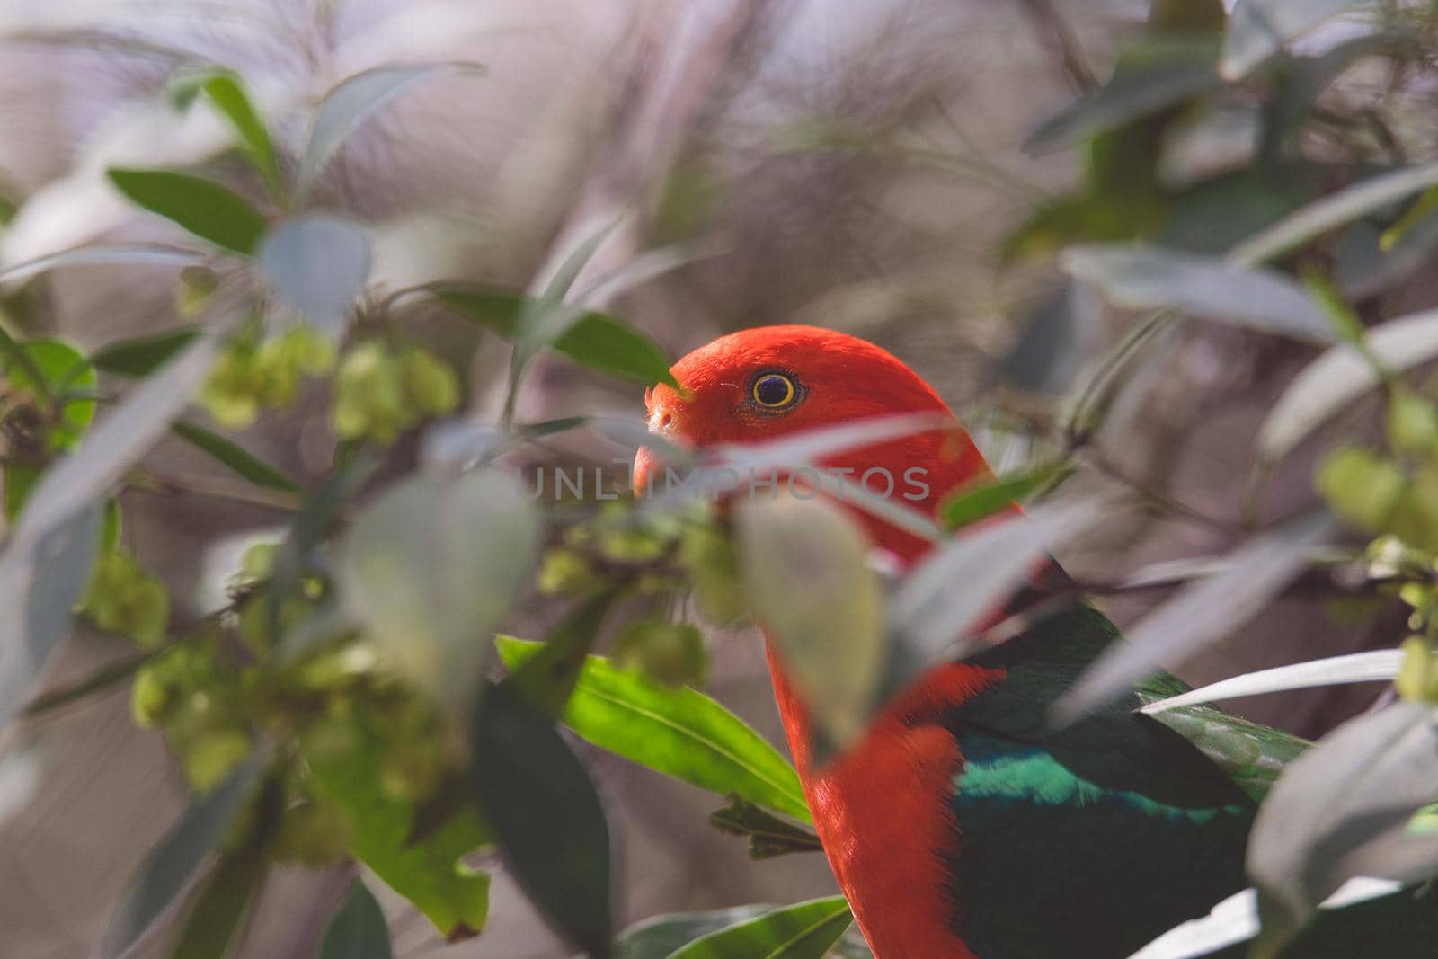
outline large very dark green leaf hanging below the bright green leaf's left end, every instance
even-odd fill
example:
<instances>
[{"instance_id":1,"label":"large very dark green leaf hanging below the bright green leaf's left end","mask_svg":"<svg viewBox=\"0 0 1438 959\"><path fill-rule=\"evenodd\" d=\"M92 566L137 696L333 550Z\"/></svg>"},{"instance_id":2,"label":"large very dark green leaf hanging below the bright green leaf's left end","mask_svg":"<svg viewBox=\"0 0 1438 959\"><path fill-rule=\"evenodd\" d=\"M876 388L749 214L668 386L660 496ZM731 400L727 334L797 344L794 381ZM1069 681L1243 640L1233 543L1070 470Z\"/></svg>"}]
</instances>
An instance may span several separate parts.
<instances>
[{"instance_id":1,"label":"large very dark green leaf hanging below the bright green leaf's left end","mask_svg":"<svg viewBox=\"0 0 1438 959\"><path fill-rule=\"evenodd\" d=\"M509 871L561 936L607 959L610 828L584 763L503 684L480 697L472 749L470 785Z\"/></svg>"}]
</instances>

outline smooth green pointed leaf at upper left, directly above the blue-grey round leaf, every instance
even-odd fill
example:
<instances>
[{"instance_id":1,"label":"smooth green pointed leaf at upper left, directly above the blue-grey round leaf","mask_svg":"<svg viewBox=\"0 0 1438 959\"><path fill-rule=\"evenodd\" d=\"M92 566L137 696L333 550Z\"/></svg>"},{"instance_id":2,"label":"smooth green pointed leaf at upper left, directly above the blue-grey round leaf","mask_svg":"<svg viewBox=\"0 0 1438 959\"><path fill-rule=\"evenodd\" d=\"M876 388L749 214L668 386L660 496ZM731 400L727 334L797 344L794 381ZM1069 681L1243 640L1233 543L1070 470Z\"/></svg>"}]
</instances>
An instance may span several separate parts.
<instances>
[{"instance_id":1,"label":"smooth green pointed leaf at upper left, directly above the blue-grey round leaf","mask_svg":"<svg viewBox=\"0 0 1438 959\"><path fill-rule=\"evenodd\" d=\"M137 204L216 246L247 256L265 236L263 214L213 180L173 170L111 168L108 175Z\"/></svg>"}]
</instances>

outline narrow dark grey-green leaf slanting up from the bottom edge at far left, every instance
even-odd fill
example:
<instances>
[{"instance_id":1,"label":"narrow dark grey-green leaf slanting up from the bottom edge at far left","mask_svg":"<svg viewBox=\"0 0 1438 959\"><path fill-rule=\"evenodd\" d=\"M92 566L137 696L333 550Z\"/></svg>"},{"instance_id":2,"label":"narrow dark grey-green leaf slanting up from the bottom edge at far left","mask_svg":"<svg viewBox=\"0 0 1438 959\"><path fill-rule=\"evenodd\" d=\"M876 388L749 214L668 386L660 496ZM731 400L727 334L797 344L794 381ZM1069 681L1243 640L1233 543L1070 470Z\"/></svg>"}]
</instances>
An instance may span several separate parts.
<instances>
[{"instance_id":1,"label":"narrow dark grey-green leaf slanting up from the bottom edge at far left","mask_svg":"<svg viewBox=\"0 0 1438 959\"><path fill-rule=\"evenodd\" d=\"M240 817L267 761L265 752L252 755L214 792L193 802L175 827L150 850L111 919L99 949L101 959L122 956L184 894Z\"/></svg>"}]
</instances>

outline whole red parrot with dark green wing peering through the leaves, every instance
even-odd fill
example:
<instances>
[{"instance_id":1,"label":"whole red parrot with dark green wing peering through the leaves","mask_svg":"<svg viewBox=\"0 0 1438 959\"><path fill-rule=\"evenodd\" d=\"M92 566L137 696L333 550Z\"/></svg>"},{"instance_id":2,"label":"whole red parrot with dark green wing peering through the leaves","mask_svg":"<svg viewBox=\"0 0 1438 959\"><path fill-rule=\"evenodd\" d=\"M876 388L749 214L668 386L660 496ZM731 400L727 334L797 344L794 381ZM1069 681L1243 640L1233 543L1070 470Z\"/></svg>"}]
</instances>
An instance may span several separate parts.
<instances>
[{"instance_id":1,"label":"whole red parrot with dark green wing peering through the leaves","mask_svg":"<svg viewBox=\"0 0 1438 959\"><path fill-rule=\"evenodd\" d=\"M856 479L871 467L893 477L919 469L928 495L906 502L930 518L953 489L992 476L939 395L854 336L795 325L745 329L690 352L673 375L683 393L656 385L646 403L650 428L680 446L933 413L948 423L823 466ZM640 450L636 490L657 483L654 473L656 459ZM873 543L905 564L932 548L857 515ZM1055 577L1057 565L1045 579ZM1114 627L1076 600L994 650L932 667L823 766L808 709L769 644L815 828L877 959L1123 959L1247 886L1254 799L1186 739L1135 713L1142 696L1181 690L1176 680L1160 676L1066 729L1048 723L1053 700L1112 641ZM1267 732L1280 745L1294 742ZM1322 935L1306 933L1284 955L1432 955L1435 896L1398 900L1322 920ZM1402 933L1395 912L1406 914Z\"/></svg>"}]
</instances>

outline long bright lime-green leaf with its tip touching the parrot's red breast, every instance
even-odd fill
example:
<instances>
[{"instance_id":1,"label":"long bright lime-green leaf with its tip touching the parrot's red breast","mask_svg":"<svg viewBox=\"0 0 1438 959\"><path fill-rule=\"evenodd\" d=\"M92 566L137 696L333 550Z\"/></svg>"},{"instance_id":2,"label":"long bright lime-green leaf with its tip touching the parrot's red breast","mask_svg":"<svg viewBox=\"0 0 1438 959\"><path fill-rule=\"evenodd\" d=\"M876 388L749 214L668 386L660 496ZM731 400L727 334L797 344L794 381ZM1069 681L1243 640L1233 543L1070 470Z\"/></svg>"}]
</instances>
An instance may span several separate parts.
<instances>
[{"instance_id":1,"label":"long bright lime-green leaf with its tip touching the parrot's red breast","mask_svg":"<svg viewBox=\"0 0 1438 959\"><path fill-rule=\"evenodd\" d=\"M498 644L510 670L544 648L506 635ZM595 746L664 775L812 821L798 776L784 756L742 719L692 689L667 689L591 656L564 722Z\"/></svg>"}]
</instances>

